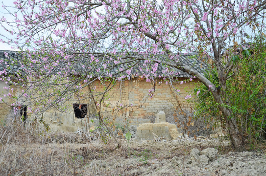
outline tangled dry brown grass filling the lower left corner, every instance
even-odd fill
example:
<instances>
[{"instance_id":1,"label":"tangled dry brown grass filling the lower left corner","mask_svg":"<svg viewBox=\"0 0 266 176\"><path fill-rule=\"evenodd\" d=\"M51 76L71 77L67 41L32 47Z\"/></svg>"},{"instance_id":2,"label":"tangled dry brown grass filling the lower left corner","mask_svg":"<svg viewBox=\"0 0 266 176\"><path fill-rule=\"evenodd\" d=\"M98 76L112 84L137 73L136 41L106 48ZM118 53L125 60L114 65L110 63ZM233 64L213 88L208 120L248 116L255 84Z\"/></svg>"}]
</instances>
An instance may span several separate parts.
<instances>
[{"instance_id":1,"label":"tangled dry brown grass filling the lower left corner","mask_svg":"<svg viewBox=\"0 0 266 176\"><path fill-rule=\"evenodd\" d=\"M85 159L97 158L94 150L84 157L75 149L91 141L94 134L88 138L68 132L48 133L34 123L24 126L10 117L0 125L0 136L1 176L77 176Z\"/></svg>"}]
</instances>

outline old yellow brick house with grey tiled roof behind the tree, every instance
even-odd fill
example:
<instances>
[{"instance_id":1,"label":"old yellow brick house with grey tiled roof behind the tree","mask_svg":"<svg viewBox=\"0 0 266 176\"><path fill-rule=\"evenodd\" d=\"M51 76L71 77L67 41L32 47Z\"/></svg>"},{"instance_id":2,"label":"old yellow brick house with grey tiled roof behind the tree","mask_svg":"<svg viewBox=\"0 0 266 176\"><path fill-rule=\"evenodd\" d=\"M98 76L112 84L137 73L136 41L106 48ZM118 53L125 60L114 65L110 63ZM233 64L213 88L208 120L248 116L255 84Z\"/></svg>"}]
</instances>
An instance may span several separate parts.
<instances>
[{"instance_id":1,"label":"old yellow brick house with grey tiled roof behind the tree","mask_svg":"<svg viewBox=\"0 0 266 176\"><path fill-rule=\"evenodd\" d=\"M195 54L183 55L183 62L193 66L194 68L203 71L200 61L194 56ZM19 55L14 51L0 51L0 71L1 76L4 76L4 71L16 72L20 69L19 66L12 66L6 69L6 61L17 60ZM118 68L114 68L116 71ZM117 81L116 84L106 92L103 101L101 102L101 112L105 117L109 119L136 119L136 123L148 122L159 111L173 111L177 108L193 108L193 103L187 101L188 95L192 94L194 84L197 83L196 78L181 70L175 69L174 72L178 73L173 76L172 83L162 76L158 76L154 80L147 81L145 78L139 76L142 75L143 70L133 69L133 73L130 79L124 79ZM158 67L158 71L162 71L162 66ZM158 74L160 75L160 74ZM18 116L24 118L30 118L31 114L28 112L30 105L23 100L23 106L12 106L12 98L8 98L7 94L10 91L16 91L6 89L8 86L3 80L0 80L0 121L4 121L4 118L14 109L19 110ZM42 116L44 120L49 124L51 129L75 131L77 127L84 125L84 118L94 118L97 115L97 103L99 102L99 96L91 97L92 94L97 94L105 91L105 85L96 80L90 88L83 88L82 94L77 97L73 96L68 99L64 106L65 112L60 112L55 109L46 110ZM179 91L176 93L176 91ZM17 91L21 92L21 91ZM19 93L17 93L19 94ZM82 98L80 98L82 97ZM83 120L83 121L82 121ZM91 121L87 121L92 123Z\"/></svg>"}]
</instances>

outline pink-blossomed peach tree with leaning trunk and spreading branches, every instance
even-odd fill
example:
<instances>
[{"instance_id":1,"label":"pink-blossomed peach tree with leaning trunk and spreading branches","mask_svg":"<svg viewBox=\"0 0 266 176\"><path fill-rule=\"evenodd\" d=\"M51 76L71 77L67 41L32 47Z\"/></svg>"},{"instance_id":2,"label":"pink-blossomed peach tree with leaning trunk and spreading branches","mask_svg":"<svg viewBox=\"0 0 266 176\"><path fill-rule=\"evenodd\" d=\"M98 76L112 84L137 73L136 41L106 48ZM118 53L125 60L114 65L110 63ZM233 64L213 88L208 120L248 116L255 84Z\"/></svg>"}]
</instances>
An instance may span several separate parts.
<instances>
[{"instance_id":1,"label":"pink-blossomed peach tree with leaning trunk and spreading branches","mask_svg":"<svg viewBox=\"0 0 266 176\"><path fill-rule=\"evenodd\" d=\"M107 92L111 83L131 79L136 67L145 67L138 76L147 82L174 77L178 73L173 68L178 68L209 89L232 146L243 150L240 122L224 94L237 48L265 35L266 1L15 0L3 8L10 16L1 18L1 26L10 35L1 41L18 47L23 57L1 70L1 80L22 86L24 99L39 107L36 112L59 106L97 79L113 80ZM215 69L219 91L212 80L180 60L191 52L209 70ZM17 62L20 69L9 74ZM157 75L159 65L163 75ZM115 67L118 71L113 72Z\"/></svg>"}]
</instances>

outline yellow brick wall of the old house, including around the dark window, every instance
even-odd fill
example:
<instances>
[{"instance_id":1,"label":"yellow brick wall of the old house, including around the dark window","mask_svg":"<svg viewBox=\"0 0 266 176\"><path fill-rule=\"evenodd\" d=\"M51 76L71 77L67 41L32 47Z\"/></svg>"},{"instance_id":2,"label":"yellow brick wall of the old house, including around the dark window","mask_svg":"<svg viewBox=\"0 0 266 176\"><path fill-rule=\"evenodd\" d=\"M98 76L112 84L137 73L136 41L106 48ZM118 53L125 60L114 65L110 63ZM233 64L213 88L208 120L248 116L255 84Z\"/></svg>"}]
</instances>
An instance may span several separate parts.
<instances>
[{"instance_id":1,"label":"yellow brick wall of the old house, including around the dark window","mask_svg":"<svg viewBox=\"0 0 266 176\"><path fill-rule=\"evenodd\" d=\"M179 79L184 81L185 79ZM162 82L162 84L159 84ZM110 82L105 82L105 87ZM145 79L131 79L126 81L117 82L115 85L111 84L111 89L105 93L104 101L101 104L101 111L106 117L129 117L129 118L143 118L145 116L155 115L162 110L174 110L178 106L178 102L182 108L193 107L192 103L188 103L184 98L187 96L189 91L193 90L194 85L191 82L184 84L174 84L175 88L180 89L180 95L176 95L172 92L169 84L166 85L164 80L158 79L155 83L155 91L152 97L148 96L148 90L153 88L154 83L146 82ZM187 89L187 91L186 91ZM102 82L97 80L91 86L93 95L102 93L105 91ZM91 93L88 87L83 88L81 93L73 95L73 98L68 100L67 105L70 112L73 112L73 104L87 104L88 113L96 114L95 103L91 97ZM94 99L97 103L100 102L102 95L95 96ZM124 107L120 109L120 105ZM132 104L132 106L131 106ZM0 120L9 113L10 106L5 103L0 103ZM53 110L49 110L52 112Z\"/></svg>"}]
</instances>

